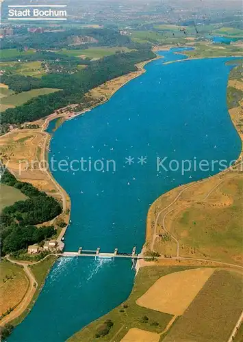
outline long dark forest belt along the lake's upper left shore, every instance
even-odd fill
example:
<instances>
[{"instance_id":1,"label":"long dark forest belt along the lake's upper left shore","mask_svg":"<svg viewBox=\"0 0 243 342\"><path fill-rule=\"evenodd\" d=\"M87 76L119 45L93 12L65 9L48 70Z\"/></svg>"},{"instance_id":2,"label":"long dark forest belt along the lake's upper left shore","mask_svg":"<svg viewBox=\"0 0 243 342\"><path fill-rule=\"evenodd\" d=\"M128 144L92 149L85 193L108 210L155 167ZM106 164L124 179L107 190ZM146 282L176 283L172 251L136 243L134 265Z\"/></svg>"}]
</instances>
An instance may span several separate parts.
<instances>
[{"instance_id":1,"label":"long dark forest belt along the lake's upper left shore","mask_svg":"<svg viewBox=\"0 0 243 342\"><path fill-rule=\"evenodd\" d=\"M149 49L116 53L90 64L88 68L79 73L44 75L40 80L40 88L62 88L62 91L38 96L24 105L7 109L1 115L1 123L19 124L25 121L34 121L44 118L66 105L81 103L88 90L105 83L105 81L137 70L136 63L150 60L153 57L155 54ZM33 83L36 84L35 81Z\"/></svg>"}]
</instances>

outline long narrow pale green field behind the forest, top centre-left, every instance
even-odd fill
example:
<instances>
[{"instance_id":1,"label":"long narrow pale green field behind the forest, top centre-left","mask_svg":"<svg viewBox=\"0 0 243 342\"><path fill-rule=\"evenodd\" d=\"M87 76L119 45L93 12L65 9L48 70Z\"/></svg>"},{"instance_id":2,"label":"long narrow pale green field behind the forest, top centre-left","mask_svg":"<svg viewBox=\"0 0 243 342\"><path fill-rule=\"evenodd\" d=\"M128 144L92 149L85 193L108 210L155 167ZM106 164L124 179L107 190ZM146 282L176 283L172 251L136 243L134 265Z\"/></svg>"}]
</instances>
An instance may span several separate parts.
<instances>
[{"instance_id":1,"label":"long narrow pale green field behind the forest, top centre-left","mask_svg":"<svg viewBox=\"0 0 243 342\"><path fill-rule=\"evenodd\" d=\"M125 51L129 52L131 50L127 49L127 47L92 47L90 49L84 49L84 50L67 50L62 49L60 51L57 51L57 53L62 53L63 55L68 56L81 56L85 55L89 58L101 58L105 56L114 55L116 51Z\"/></svg>"}]
</instances>

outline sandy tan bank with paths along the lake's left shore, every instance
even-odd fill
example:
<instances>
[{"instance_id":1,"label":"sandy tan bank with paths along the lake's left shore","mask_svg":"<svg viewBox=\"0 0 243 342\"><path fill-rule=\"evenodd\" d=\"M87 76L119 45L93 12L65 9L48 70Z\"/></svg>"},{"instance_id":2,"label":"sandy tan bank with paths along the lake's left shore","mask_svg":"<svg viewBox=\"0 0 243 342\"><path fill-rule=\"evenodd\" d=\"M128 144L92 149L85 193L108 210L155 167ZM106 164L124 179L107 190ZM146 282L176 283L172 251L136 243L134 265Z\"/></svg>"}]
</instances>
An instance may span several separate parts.
<instances>
[{"instance_id":1,"label":"sandy tan bank with paths along the lake's left shore","mask_svg":"<svg viewBox=\"0 0 243 342\"><path fill-rule=\"evenodd\" d=\"M157 58L161 58L161 56L158 56ZM52 135L45 130L52 120L56 120L58 118L61 118L62 122L71 120L72 118L85 114L86 111L90 111L94 107L97 107L97 105L101 105L106 101L109 101L110 98L121 87L131 81L131 79L142 75L142 73L146 71L144 66L149 62L151 62L151 60L137 64L138 70L136 72L129 73L128 75L108 81L104 85L94 88L88 92L88 94L86 94L88 98L91 98L91 100L94 100L94 102L98 101L98 103L84 109L84 111L75 114L72 111L73 107L68 106L68 108L63 108L62 110L59 109L59 111L56 111L45 119L41 119L36 122L27 122L25 124L34 124L38 128L14 129L0 137L0 147L3 153L3 162L6 164L10 172L12 172L20 181L31 183L38 187L38 189L41 191L46 192L49 196L53 196L62 202L62 214L50 222L44 222L40 225L43 226L52 224L55 226L57 230L57 243L60 246L60 249L62 249L64 246L62 237L64 237L66 229L68 228L68 222L70 221L71 200L66 191L57 183L57 181L55 181L51 172L49 172L48 169L40 168L40 165L42 165L43 161L46 163L46 165L48 163L49 144L52 137ZM60 111L62 111L62 113L60 113ZM23 162L20 164L19 161ZM66 223L66 226L64 226L62 229L60 229L58 225L60 222ZM16 263L22 265L21 261L17 261ZM25 267L28 267L28 265L32 265L32 263L23 262L24 269ZM51 263L49 270L51 269L52 265L53 264ZM29 281L33 280L33 277L31 278L31 276L29 276L29 269L25 269L25 273L27 274ZM42 285L37 286L36 291L36 288L34 287L34 280L31 281L31 287L23 298L23 301L18 305L18 307L16 307L16 310L14 309L10 315L5 317L4 321L0 321L0 324L4 325L13 319L14 321L12 321L12 324L19 324L34 305L38 293L41 291ZM17 316L20 316L20 318L16 319Z\"/></svg>"}]
</instances>

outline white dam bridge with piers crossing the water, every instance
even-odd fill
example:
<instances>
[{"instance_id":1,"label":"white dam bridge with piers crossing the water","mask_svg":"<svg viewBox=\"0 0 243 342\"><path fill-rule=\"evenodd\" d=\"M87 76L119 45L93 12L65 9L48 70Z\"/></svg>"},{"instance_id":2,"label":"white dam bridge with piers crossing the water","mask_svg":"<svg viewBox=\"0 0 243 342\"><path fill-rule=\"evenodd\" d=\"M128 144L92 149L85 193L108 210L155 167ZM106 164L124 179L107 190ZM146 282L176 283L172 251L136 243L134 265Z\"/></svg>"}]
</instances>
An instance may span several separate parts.
<instances>
[{"instance_id":1,"label":"white dam bridge with piers crossing the water","mask_svg":"<svg viewBox=\"0 0 243 342\"><path fill-rule=\"evenodd\" d=\"M142 259L142 253L136 254L136 247L133 247L131 254L129 253L120 253L118 252L118 248L115 248L114 252L101 252L101 248L97 248L97 250L83 250L82 247L79 248L77 252L63 252L60 254L61 257L94 257L97 258L107 258L107 259L115 259L115 258L127 258L127 259Z\"/></svg>"}]
</instances>

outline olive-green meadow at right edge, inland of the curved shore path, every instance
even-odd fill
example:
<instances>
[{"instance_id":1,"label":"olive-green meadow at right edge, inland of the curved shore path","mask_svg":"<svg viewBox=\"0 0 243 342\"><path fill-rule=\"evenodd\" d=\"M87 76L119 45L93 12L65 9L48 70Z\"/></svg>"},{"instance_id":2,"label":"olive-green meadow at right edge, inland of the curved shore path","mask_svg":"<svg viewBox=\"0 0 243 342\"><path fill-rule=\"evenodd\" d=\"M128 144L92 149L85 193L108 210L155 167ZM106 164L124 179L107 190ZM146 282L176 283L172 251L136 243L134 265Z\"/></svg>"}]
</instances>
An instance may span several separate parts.
<instances>
[{"instance_id":1,"label":"olive-green meadow at right edge, inland of the curved shore path","mask_svg":"<svg viewBox=\"0 0 243 342\"><path fill-rule=\"evenodd\" d=\"M243 179L235 171L207 201L194 202L178 213L172 233L179 237L182 256L196 250L198 257L242 262L242 194Z\"/></svg>"}]
</instances>

